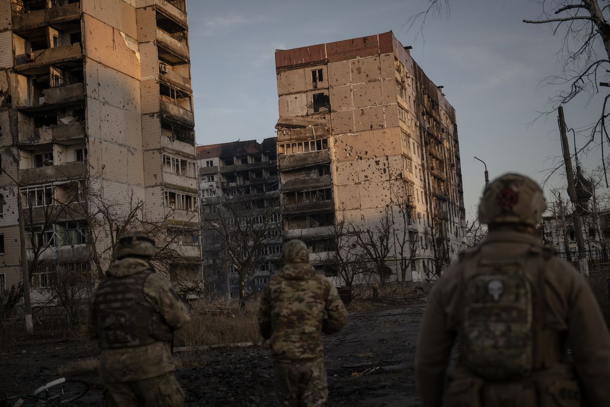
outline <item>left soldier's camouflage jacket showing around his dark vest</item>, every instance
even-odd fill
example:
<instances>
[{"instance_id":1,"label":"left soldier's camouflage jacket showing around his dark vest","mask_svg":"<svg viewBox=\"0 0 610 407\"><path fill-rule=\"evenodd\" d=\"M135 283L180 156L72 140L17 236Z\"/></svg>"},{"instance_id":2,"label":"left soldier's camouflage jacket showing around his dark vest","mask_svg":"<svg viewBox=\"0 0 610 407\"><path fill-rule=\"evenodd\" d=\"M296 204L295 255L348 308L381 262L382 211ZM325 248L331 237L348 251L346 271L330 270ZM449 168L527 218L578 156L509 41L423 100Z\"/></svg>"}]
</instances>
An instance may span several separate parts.
<instances>
[{"instance_id":1,"label":"left soldier's camouflage jacket showing around his dark vest","mask_svg":"<svg viewBox=\"0 0 610 407\"><path fill-rule=\"evenodd\" d=\"M149 270L148 262L137 258L124 258L110 265L107 273L115 277L129 276ZM190 320L187 306L171 287L167 278L152 273L144 283L146 299L161 314L165 323L178 330ZM98 318L93 303L95 293L90 298L88 331L91 339L99 339ZM102 350L99 371L104 381L132 381L151 378L172 372L175 369L171 357L171 347L167 342L132 348Z\"/></svg>"}]
</instances>

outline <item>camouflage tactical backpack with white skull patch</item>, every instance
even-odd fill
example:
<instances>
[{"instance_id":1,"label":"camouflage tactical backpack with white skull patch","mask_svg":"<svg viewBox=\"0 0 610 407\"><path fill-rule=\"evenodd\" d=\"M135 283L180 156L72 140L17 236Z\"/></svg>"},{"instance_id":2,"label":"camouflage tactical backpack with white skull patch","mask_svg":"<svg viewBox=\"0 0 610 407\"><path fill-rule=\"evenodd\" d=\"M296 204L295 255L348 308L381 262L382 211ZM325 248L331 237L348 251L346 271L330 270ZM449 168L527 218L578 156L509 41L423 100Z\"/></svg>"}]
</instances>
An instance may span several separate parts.
<instances>
[{"instance_id":1,"label":"camouflage tactical backpack with white skull patch","mask_svg":"<svg viewBox=\"0 0 610 407\"><path fill-rule=\"evenodd\" d=\"M478 250L465 255L460 358L480 378L514 380L533 371L534 312L544 312L546 258L540 251L512 261L484 259Z\"/></svg>"}]
</instances>

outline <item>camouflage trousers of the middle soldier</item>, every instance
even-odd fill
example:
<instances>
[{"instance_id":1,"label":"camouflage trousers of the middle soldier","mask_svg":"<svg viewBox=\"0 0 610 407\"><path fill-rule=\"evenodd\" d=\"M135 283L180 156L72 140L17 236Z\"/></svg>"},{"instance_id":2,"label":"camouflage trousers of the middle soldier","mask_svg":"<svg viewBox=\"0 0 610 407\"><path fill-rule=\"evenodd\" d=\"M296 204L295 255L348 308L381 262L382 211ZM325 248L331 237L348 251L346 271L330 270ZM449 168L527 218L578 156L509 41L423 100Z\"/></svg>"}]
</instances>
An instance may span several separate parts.
<instances>
[{"instance_id":1,"label":"camouflage trousers of the middle soldier","mask_svg":"<svg viewBox=\"0 0 610 407\"><path fill-rule=\"evenodd\" d=\"M273 362L275 391L284 407L323 407L328 399L324 358Z\"/></svg>"}]
</instances>

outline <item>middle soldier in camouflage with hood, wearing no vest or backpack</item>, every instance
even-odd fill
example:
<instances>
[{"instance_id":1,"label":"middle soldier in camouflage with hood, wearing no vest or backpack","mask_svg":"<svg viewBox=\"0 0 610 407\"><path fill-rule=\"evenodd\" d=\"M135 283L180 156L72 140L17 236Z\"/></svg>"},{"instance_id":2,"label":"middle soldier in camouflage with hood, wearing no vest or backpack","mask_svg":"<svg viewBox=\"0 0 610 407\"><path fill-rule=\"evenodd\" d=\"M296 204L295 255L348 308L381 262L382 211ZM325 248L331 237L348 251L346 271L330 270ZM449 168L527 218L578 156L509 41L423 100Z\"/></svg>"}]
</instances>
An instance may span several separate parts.
<instances>
[{"instance_id":1,"label":"middle soldier in camouflage with hood, wearing no vest or backpack","mask_svg":"<svg viewBox=\"0 0 610 407\"><path fill-rule=\"evenodd\" d=\"M260 333L271 339L274 384L281 406L325 406L328 398L321 333L339 332L347 311L337 288L309 264L301 240L284 246L284 267L262 292ZM323 313L328 318L323 319Z\"/></svg>"}]
</instances>

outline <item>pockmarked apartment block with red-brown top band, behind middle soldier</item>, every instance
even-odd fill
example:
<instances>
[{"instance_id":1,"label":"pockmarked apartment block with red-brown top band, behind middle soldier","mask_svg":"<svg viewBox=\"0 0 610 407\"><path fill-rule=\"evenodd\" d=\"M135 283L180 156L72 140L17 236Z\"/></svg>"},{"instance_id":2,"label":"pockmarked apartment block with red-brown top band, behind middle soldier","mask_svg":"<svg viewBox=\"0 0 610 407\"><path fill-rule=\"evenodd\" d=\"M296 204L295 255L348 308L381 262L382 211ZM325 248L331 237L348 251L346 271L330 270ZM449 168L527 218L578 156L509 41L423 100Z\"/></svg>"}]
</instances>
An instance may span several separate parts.
<instances>
[{"instance_id":1,"label":"pockmarked apartment block with red-brown top band, behind middle soldier","mask_svg":"<svg viewBox=\"0 0 610 407\"><path fill-rule=\"evenodd\" d=\"M442 87L392 32L277 50L275 59L285 238L306 241L316 268L337 276L339 226L366 237L386 225L389 248L369 262L387 265L392 279L401 279L401 259L406 279L440 275L465 242L456 113ZM357 243L366 242L345 251Z\"/></svg>"}]
</instances>

